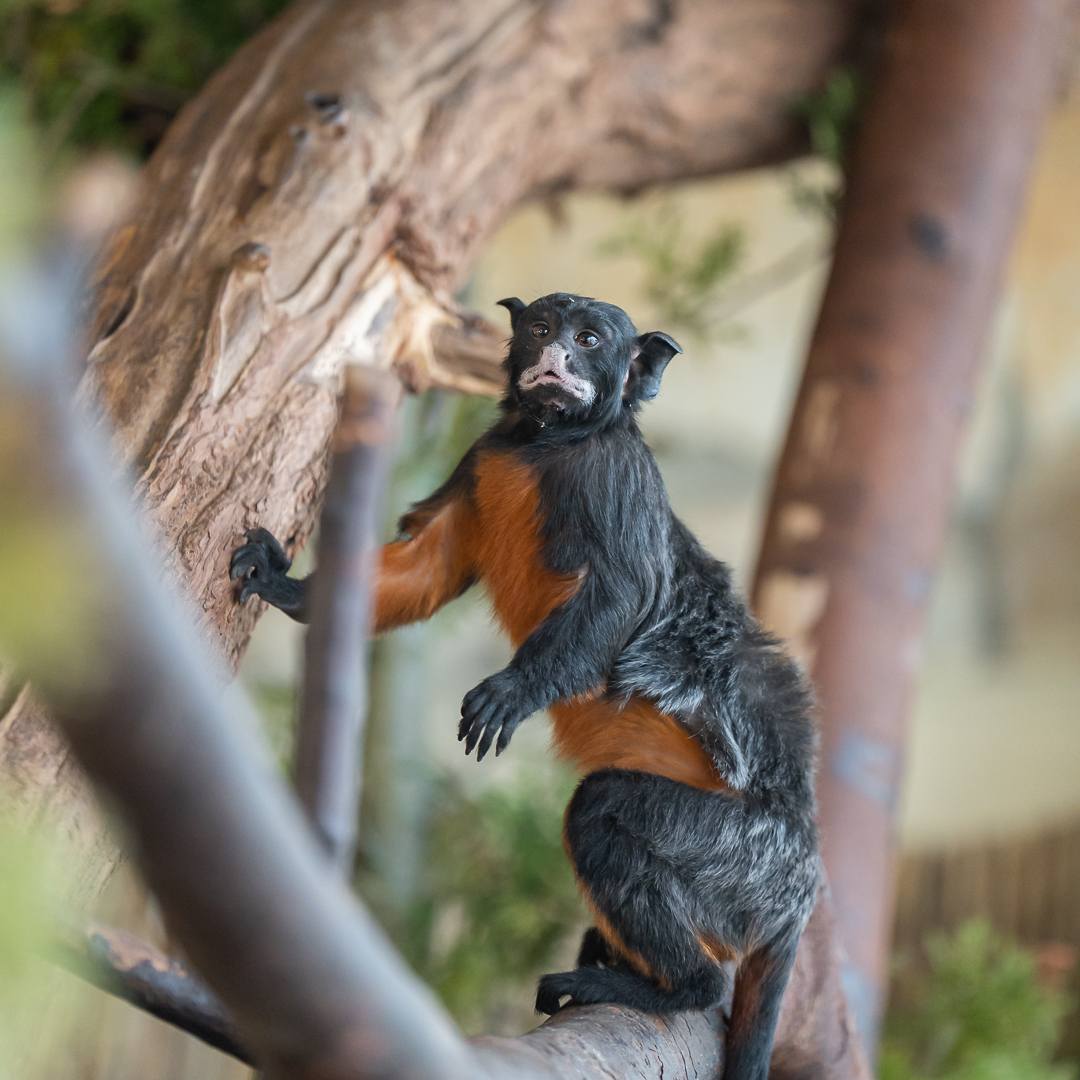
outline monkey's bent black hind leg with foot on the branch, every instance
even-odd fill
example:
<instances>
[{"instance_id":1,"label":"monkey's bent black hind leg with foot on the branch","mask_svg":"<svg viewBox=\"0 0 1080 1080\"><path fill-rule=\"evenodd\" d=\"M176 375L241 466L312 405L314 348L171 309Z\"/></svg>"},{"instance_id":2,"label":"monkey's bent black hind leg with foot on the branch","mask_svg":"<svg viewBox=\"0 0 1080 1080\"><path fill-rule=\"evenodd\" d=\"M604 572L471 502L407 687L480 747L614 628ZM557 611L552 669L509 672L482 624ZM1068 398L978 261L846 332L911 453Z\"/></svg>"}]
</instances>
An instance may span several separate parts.
<instances>
[{"instance_id":1,"label":"monkey's bent black hind leg with foot on the branch","mask_svg":"<svg viewBox=\"0 0 1080 1080\"><path fill-rule=\"evenodd\" d=\"M712 800L712 801L710 801ZM652 1013L718 1005L730 989L724 961L735 943L717 940L700 847L712 848L710 806L728 796L665 777L605 769L586 777L566 816L566 840L597 927L618 969L579 967L544 975L537 1010L569 996L580 1004L616 1002Z\"/></svg>"}]
</instances>

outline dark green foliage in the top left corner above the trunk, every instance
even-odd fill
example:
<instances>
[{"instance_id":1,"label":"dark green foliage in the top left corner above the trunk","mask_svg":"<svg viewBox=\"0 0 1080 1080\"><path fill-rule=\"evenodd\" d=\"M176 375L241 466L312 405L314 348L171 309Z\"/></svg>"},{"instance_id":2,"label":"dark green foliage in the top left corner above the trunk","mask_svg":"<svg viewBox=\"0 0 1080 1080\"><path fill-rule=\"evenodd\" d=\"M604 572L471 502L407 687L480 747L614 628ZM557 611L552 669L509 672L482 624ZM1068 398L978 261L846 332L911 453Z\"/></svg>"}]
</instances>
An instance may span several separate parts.
<instances>
[{"instance_id":1,"label":"dark green foliage in the top left corner above the trunk","mask_svg":"<svg viewBox=\"0 0 1080 1080\"><path fill-rule=\"evenodd\" d=\"M0 79L51 151L147 153L179 107L286 0L0 0Z\"/></svg>"}]
</instances>

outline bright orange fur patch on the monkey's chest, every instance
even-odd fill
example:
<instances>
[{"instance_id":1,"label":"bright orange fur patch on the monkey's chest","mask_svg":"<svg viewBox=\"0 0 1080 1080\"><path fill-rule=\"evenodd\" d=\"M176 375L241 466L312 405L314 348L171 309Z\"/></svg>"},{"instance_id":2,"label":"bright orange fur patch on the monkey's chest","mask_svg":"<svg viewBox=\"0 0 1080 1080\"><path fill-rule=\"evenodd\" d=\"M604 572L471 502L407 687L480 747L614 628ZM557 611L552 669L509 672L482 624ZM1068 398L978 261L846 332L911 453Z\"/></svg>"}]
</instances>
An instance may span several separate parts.
<instances>
[{"instance_id":1,"label":"bright orange fur patch on the monkey's chest","mask_svg":"<svg viewBox=\"0 0 1080 1080\"><path fill-rule=\"evenodd\" d=\"M540 492L534 470L510 454L476 464L480 517L476 564L495 613L516 649L581 585L581 575L556 573L543 561Z\"/></svg>"}]
</instances>

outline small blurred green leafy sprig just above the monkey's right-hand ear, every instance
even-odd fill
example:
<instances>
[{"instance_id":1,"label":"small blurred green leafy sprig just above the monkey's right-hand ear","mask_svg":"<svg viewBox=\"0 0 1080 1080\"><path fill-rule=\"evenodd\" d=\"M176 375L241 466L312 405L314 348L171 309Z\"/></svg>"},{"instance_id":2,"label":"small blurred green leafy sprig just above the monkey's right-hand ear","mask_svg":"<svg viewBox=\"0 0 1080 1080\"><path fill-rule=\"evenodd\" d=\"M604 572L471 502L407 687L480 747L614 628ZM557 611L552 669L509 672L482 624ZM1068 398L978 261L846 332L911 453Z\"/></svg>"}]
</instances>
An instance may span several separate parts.
<instances>
[{"instance_id":1,"label":"small blurred green leafy sprig just above the monkey's right-hand ear","mask_svg":"<svg viewBox=\"0 0 1080 1080\"><path fill-rule=\"evenodd\" d=\"M674 202L667 201L606 240L599 253L635 256L645 270L645 296L657 315L705 337L718 329L719 289L741 265L744 247L743 229L730 224L692 243Z\"/></svg>"}]
</instances>

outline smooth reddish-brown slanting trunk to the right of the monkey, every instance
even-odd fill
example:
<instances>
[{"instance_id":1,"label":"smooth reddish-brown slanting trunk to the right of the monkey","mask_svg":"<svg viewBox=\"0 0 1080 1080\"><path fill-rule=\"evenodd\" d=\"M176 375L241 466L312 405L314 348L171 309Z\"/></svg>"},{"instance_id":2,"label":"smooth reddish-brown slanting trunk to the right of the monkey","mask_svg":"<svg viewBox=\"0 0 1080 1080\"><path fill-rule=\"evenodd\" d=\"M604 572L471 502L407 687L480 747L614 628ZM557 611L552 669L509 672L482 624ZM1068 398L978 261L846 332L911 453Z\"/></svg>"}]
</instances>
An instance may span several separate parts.
<instances>
[{"instance_id":1,"label":"smooth reddish-brown slanting trunk to the right of the monkey","mask_svg":"<svg viewBox=\"0 0 1080 1080\"><path fill-rule=\"evenodd\" d=\"M906 0L848 172L755 583L812 673L825 866L873 1047L922 627L1072 0Z\"/></svg>"}]
</instances>

